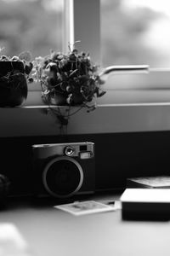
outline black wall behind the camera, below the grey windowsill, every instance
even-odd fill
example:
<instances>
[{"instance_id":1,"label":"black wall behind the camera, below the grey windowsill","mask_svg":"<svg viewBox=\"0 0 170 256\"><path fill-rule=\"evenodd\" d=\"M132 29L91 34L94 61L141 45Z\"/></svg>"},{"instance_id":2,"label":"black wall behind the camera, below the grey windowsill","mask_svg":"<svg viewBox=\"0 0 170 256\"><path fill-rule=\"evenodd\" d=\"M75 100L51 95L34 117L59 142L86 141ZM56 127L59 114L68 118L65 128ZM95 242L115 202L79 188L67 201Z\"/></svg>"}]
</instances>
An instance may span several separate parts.
<instances>
[{"instance_id":1,"label":"black wall behind the camera, below the grey windowsill","mask_svg":"<svg viewBox=\"0 0 170 256\"><path fill-rule=\"evenodd\" d=\"M170 131L0 138L1 173L28 193L42 181L32 169L31 145L86 141L95 144L96 191L125 188L127 177L170 174Z\"/></svg>"}]
</instances>

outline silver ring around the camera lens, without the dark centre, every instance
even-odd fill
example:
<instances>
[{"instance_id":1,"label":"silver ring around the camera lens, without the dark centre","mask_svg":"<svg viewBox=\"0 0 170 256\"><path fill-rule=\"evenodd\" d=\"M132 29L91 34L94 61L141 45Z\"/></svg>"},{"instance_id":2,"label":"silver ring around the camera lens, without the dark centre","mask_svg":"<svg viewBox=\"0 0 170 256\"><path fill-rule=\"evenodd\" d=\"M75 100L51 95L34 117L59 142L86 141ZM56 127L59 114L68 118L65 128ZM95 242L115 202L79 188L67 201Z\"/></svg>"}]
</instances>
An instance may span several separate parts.
<instances>
[{"instance_id":1,"label":"silver ring around the camera lens, without the dark centre","mask_svg":"<svg viewBox=\"0 0 170 256\"><path fill-rule=\"evenodd\" d=\"M79 171L80 174L80 180L79 183L77 184L77 188L74 189L74 191L72 191L71 193L67 194L67 195L59 195L57 193L54 193L54 191L52 189L49 188L48 186L48 182L47 182L47 175L48 175L48 170L51 166L54 165L55 162L59 162L61 160L68 160L71 163L73 163L74 165L77 166L77 169ZM77 160L68 157L68 156L59 156L54 158L53 160L50 160L48 162L48 164L45 166L43 172L42 172L42 183L45 187L45 189L47 190L49 195L53 195L54 197L58 197L58 198L66 198L66 197L70 197L71 195L74 195L77 193L77 191L82 187L82 182L83 182L83 172L82 172L82 166L77 162Z\"/></svg>"}]
</instances>

